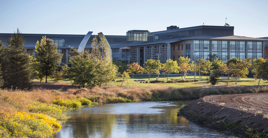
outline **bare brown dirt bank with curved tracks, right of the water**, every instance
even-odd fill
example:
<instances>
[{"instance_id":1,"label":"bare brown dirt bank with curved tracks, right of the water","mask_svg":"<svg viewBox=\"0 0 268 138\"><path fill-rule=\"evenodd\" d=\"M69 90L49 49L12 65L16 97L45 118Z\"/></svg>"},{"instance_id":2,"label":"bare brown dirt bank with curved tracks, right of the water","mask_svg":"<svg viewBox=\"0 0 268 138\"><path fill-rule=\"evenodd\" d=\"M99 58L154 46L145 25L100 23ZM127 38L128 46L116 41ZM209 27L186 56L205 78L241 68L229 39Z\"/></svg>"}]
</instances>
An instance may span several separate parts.
<instances>
[{"instance_id":1,"label":"bare brown dirt bank with curved tracks, right of the water","mask_svg":"<svg viewBox=\"0 0 268 138\"><path fill-rule=\"evenodd\" d=\"M268 93L258 93L205 96L180 109L178 115L246 136L268 133L267 114Z\"/></svg>"}]
</instances>

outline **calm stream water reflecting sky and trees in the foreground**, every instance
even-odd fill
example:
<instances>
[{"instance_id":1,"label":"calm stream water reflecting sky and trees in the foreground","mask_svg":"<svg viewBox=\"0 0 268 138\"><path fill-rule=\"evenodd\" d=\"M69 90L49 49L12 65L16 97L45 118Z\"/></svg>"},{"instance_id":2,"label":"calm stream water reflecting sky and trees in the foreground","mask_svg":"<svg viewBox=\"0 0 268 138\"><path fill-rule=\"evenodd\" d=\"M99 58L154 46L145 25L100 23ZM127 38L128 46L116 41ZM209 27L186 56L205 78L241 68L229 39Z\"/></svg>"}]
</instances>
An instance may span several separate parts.
<instances>
[{"instance_id":1,"label":"calm stream water reflecting sky and trees in the foreground","mask_svg":"<svg viewBox=\"0 0 268 138\"><path fill-rule=\"evenodd\" d=\"M177 117L191 101L96 105L66 113L54 138L237 138L208 125Z\"/></svg>"}]
</instances>

